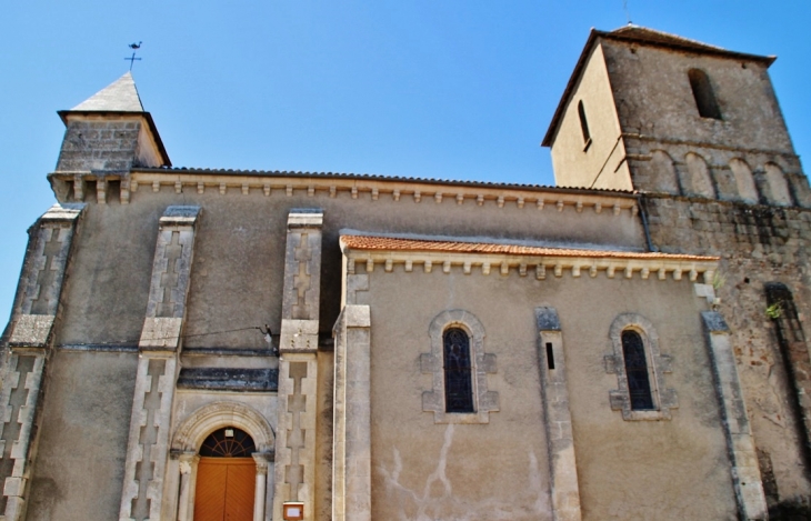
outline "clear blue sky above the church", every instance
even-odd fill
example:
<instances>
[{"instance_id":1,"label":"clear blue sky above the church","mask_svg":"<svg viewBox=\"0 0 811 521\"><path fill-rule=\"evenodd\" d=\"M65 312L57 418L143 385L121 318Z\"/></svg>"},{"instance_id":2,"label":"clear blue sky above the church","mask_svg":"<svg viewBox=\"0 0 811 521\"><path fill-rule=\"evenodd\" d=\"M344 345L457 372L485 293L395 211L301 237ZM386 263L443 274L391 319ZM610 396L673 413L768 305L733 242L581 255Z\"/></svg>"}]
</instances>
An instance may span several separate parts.
<instances>
[{"instance_id":1,"label":"clear blue sky above the church","mask_svg":"<svg viewBox=\"0 0 811 521\"><path fill-rule=\"evenodd\" d=\"M0 18L0 317L26 229L52 204L70 109L133 74L176 167L552 184L539 147L594 27L622 0L8 2ZM777 54L778 98L811 153L811 2L628 0L634 23ZM152 246L150 246L151 248Z\"/></svg>"}]
</instances>

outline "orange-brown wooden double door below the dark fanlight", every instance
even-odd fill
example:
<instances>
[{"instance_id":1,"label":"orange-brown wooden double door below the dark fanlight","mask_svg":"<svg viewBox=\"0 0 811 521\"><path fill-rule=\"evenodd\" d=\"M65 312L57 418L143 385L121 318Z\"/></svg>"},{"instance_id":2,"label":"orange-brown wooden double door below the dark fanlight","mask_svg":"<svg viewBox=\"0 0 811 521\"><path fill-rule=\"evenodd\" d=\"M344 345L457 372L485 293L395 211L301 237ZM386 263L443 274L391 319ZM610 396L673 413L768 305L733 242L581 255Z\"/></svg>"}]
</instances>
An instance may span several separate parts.
<instances>
[{"instance_id":1,"label":"orange-brown wooden double door below the dark fanlight","mask_svg":"<svg viewBox=\"0 0 811 521\"><path fill-rule=\"evenodd\" d=\"M256 488L253 458L200 458L194 521L252 521Z\"/></svg>"}]
</instances>

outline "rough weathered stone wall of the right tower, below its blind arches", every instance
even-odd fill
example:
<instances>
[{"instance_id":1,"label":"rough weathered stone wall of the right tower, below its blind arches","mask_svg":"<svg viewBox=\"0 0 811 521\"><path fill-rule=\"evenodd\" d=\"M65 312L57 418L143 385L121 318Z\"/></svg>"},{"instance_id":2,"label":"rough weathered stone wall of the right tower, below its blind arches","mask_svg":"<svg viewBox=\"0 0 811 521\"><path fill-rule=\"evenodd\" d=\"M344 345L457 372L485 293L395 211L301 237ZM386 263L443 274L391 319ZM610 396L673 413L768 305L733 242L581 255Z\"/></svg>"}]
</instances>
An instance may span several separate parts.
<instances>
[{"instance_id":1,"label":"rough weathered stone wall of the right tower, below its blind arches","mask_svg":"<svg viewBox=\"0 0 811 521\"><path fill-rule=\"evenodd\" d=\"M654 244L662 251L721 256L717 294L732 330L738 368L771 505L811 493L801 452L802 422L791 411L783 359L767 317L764 283L793 293L800 321L811 317L811 212L797 208L648 198ZM808 350L792 353L799 384L811 391ZM805 414L809 404L802 400ZM773 483L771 487L769 483Z\"/></svg>"}]
</instances>

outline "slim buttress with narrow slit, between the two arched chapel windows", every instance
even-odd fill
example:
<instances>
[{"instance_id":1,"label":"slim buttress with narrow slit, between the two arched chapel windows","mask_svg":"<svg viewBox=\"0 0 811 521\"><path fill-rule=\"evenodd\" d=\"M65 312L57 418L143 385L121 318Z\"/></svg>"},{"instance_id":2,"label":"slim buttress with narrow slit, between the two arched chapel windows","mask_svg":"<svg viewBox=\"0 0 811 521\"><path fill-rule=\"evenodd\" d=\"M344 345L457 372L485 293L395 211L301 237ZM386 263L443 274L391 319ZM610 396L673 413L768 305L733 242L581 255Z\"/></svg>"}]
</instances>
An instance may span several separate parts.
<instances>
[{"instance_id":1,"label":"slim buttress with narrow slit, between the two arched chapel windows","mask_svg":"<svg viewBox=\"0 0 811 521\"><path fill-rule=\"evenodd\" d=\"M558 311L554 308L535 308L535 323L539 333L538 363L549 449L552 517L555 521L580 521L578 467L574 459L563 337Z\"/></svg>"}]
</instances>

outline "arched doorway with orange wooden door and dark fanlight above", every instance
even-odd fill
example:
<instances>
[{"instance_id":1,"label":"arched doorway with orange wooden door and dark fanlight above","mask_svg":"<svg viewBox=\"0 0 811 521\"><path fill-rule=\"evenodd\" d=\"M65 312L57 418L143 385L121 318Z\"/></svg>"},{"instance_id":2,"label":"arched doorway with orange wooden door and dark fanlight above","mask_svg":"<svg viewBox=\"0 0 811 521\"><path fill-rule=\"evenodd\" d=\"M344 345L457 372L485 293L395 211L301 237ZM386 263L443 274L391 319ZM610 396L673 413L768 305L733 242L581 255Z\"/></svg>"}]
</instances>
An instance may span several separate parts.
<instances>
[{"instance_id":1,"label":"arched doorway with orange wooden door and dark fanlight above","mask_svg":"<svg viewBox=\"0 0 811 521\"><path fill-rule=\"evenodd\" d=\"M200 447L194 521L251 521L257 463L253 439L241 429L216 430Z\"/></svg>"}]
</instances>

